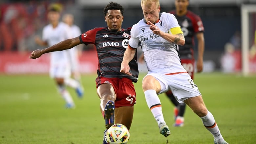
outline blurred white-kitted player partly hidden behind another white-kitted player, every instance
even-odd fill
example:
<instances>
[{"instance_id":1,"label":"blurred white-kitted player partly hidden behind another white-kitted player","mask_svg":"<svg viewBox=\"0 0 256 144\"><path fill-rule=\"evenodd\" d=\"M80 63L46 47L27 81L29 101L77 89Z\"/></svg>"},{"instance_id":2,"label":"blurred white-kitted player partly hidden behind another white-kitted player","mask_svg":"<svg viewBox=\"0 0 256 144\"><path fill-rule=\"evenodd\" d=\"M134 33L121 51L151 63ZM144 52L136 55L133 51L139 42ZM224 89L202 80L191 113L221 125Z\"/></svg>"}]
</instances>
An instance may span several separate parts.
<instances>
[{"instance_id":1,"label":"blurred white-kitted player partly hidden behind another white-kitted player","mask_svg":"<svg viewBox=\"0 0 256 144\"><path fill-rule=\"evenodd\" d=\"M77 37L82 34L81 29L74 24L74 16L72 14L64 14L62 21L70 26L72 37ZM75 46L68 51L70 53L71 75L82 86L81 74L79 72L79 57L82 55L83 45Z\"/></svg>"}]
</instances>

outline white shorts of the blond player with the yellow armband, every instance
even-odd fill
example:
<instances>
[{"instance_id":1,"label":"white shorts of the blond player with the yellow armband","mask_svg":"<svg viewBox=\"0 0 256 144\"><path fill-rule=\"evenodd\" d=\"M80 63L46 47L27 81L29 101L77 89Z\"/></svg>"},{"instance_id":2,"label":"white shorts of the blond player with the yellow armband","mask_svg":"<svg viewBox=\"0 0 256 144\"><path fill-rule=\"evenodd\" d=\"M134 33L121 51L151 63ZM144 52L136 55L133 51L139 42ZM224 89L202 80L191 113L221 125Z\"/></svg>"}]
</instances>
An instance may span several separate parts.
<instances>
[{"instance_id":1,"label":"white shorts of the blond player with the yellow armband","mask_svg":"<svg viewBox=\"0 0 256 144\"><path fill-rule=\"evenodd\" d=\"M173 75L150 73L147 75L155 77L155 79L158 80L158 82L160 83L161 90L158 94L165 93L168 90L171 90L176 100L180 103L188 98L201 95L197 85L194 84L188 73Z\"/></svg>"}]
</instances>

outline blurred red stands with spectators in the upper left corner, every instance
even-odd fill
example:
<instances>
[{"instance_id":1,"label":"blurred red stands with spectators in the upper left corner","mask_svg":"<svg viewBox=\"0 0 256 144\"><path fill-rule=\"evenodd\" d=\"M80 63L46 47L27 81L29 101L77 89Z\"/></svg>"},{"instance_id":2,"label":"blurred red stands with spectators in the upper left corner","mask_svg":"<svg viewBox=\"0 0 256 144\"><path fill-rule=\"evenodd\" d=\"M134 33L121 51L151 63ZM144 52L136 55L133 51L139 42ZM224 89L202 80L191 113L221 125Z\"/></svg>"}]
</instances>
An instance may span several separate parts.
<instances>
[{"instance_id":1,"label":"blurred red stands with spectators in the upper left corner","mask_svg":"<svg viewBox=\"0 0 256 144\"><path fill-rule=\"evenodd\" d=\"M34 42L48 24L47 7L53 1L30 0L0 3L0 52L27 52L40 48ZM74 0L54 1L63 10Z\"/></svg>"}]
</instances>

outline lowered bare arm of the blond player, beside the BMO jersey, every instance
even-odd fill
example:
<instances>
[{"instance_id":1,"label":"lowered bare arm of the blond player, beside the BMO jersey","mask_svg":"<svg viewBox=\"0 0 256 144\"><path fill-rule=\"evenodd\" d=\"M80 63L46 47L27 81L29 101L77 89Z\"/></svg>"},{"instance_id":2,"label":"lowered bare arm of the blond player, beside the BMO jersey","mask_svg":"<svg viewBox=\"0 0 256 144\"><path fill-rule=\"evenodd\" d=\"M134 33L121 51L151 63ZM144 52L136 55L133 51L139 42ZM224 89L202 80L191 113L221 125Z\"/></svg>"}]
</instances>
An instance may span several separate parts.
<instances>
[{"instance_id":1,"label":"lowered bare arm of the blond player, beside the BMO jersey","mask_svg":"<svg viewBox=\"0 0 256 144\"><path fill-rule=\"evenodd\" d=\"M124 52L120 72L122 72L124 74L127 74L127 75L130 75L130 76L132 75L130 73L129 62L134 58L135 53L136 53L136 49L131 48L130 46L128 46L128 48Z\"/></svg>"}]
</instances>

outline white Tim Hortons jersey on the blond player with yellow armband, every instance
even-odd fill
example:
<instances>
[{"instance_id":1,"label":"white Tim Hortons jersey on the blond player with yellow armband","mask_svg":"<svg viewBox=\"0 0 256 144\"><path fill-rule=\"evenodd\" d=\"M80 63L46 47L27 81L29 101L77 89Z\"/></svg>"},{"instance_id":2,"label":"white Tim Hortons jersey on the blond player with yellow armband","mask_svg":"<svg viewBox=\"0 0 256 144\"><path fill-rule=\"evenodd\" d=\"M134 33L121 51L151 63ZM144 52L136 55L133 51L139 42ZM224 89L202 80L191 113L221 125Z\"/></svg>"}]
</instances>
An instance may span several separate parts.
<instances>
[{"instance_id":1,"label":"white Tim Hortons jersey on the blond player with yellow armband","mask_svg":"<svg viewBox=\"0 0 256 144\"><path fill-rule=\"evenodd\" d=\"M155 24L161 31L170 33L171 28L180 27L173 14L159 13L159 21ZM186 72L178 55L178 45L172 44L150 30L144 19L133 25L129 45L142 47L149 73Z\"/></svg>"}]
</instances>

